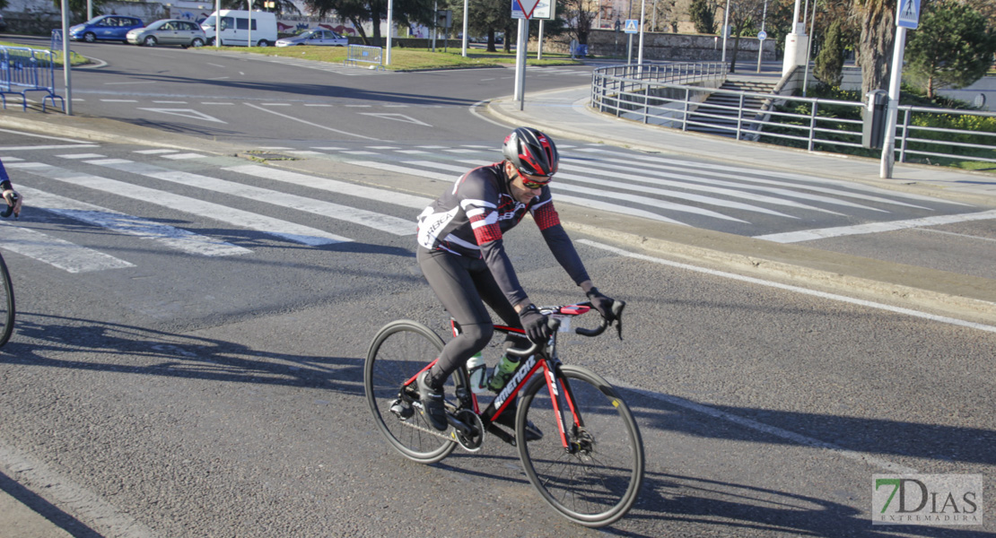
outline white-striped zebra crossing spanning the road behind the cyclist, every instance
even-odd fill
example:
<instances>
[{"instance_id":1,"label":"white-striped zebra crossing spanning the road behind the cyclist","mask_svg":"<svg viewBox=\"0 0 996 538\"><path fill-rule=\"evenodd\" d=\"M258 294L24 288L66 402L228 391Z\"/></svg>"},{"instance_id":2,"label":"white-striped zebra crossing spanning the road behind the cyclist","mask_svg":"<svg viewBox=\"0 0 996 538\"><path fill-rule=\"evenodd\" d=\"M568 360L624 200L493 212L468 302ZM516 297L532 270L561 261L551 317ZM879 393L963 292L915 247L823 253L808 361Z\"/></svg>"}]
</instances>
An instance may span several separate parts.
<instances>
[{"instance_id":1,"label":"white-striped zebra crossing spanning the road behind the cyclist","mask_svg":"<svg viewBox=\"0 0 996 538\"><path fill-rule=\"evenodd\" d=\"M16 183L30 208L26 214L38 215L41 211L120 236L152 242L163 249L192 257L243 257L251 255L253 250L210 234L185 230L181 225L163 224L49 192L52 189L33 186L31 177L168 208L220 223L221 229L247 230L306 248L354 242L356 238L351 237L349 231L356 233L358 227L385 237L414 235L415 216L432 201L426 196L262 164L218 166L205 162L198 167L197 159L213 156L190 151L138 149L132 151L132 159L107 157L96 152L99 151L97 144L70 144L52 149L59 151L44 159L47 162L0 155L9 171L19 178ZM452 182L475 166L502 158L493 146L469 143L264 149L441 182ZM908 221L972 210L965 204L805 174L751 170L657 155L621 154L619 150L596 144L565 144L561 151L561 171L551 183L559 206L570 204L684 226L733 227L735 233L748 236L777 238L779 234L833 228L829 225L835 223ZM180 162L182 166L178 164ZM78 164L87 165L89 171L81 170L82 166L76 166ZM106 170L107 173L93 173L94 170ZM137 184L149 179L164 182L166 187ZM265 180L267 186L253 184L258 184L259 180ZM292 194L285 192L282 186L315 195ZM307 219L305 222L316 224L305 225L209 202L185 192L195 189L217 193L226 199L265 201L282 211L322 219ZM379 209L354 207L346 202L350 199L370 201ZM390 209L385 211L384 207ZM0 221L3 226L0 248L71 273L134 267L134 263L122 259L121 255L112 256L75 245L52 233L33 230L27 226L30 221L31 217L23 221ZM820 226L811 223L820 223ZM339 225L343 225L342 229Z\"/></svg>"}]
</instances>

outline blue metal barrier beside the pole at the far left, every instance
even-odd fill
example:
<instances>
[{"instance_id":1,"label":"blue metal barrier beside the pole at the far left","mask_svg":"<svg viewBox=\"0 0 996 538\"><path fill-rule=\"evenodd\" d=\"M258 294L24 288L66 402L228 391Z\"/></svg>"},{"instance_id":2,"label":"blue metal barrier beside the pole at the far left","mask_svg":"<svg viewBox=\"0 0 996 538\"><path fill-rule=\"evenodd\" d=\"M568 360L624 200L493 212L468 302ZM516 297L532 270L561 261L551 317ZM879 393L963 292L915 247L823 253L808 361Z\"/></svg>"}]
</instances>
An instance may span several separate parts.
<instances>
[{"instance_id":1,"label":"blue metal barrier beside the pole at the far left","mask_svg":"<svg viewBox=\"0 0 996 538\"><path fill-rule=\"evenodd\" d=\"M52 99L62 101L66 110L66 99L56 94L55 66L51 51L40 51L25 47L0 47L0 99L7 108L7 93L21 95L24 110L28 109L28 91L45 91L42 97L42 111L45 103Z\"/></svg>"}]
</instances>

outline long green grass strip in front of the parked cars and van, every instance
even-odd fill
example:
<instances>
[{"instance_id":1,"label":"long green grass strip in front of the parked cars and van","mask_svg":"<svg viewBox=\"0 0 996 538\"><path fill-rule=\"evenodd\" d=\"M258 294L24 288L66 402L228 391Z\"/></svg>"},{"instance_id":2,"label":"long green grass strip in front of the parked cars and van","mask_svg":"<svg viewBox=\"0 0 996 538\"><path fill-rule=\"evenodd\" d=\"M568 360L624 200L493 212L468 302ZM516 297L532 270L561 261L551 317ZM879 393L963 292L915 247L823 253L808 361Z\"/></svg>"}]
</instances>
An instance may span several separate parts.
<instances>
[{"instance_id":1,"label":"long green grass strip in front of the parked cars and van","mask_svg":"<svg viewBox=\"0 0 996 538\"><path fill-rule=\"evenodd\" d=\"M210 52L215 48L211 46L203 47L200 50ZM307 45L297 47L220 47L219 50L237 53L256 53L266 56L277 56L284 58L301 58L304 60L315 60L317 62L329 62L331 64L342 64L346 61L347 49L345 47L310 47ZM576 66L581 65L577 60L571 60L568 55L544 54L543 60L534 58L527 59L530 66ZM363 64L360 64L363 66ZM467 57L461 56L458 48L442 52L436 49L431 52L427 49L400 49L391 48L390 65L384 66L389 71L428 71L440 69L465 69L465 68L486 68L496 66L515 65L515 53L488 53L481 49L467 51Z\"/></svg>"}]
</instances>

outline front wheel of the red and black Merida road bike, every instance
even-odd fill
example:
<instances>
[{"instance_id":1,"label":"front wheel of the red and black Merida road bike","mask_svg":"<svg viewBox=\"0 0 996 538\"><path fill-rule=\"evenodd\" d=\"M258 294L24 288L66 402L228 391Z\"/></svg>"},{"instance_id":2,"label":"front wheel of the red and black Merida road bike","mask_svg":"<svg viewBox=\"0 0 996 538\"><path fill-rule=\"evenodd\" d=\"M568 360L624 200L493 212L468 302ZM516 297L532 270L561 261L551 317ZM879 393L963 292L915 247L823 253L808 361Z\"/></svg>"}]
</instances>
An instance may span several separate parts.
<instances>
[{"instance_id":1,"label":"front wheel of the red and black Merida road bike","mask_svg":"<svg viewBox=\"0 0 996 538\"><path fill-rule=\"evenodd\" d=\"M636 501L643 481L643 442L639 429L616 390L594 372L561 367L564 385L558 407L568 424L566 450L557 430L558 417L542 378L526 388L519 403L516 439L526 439L527 421L545 431L543 439L519 443L519 456L529 481L543 499L568 519L588 527L618 521ZM563 393L574 395L582 427L574 426Z\"/></svg>"}]
</instances>

